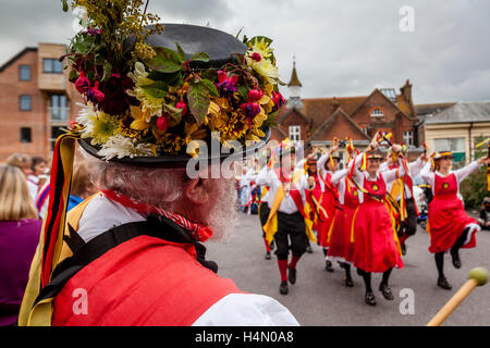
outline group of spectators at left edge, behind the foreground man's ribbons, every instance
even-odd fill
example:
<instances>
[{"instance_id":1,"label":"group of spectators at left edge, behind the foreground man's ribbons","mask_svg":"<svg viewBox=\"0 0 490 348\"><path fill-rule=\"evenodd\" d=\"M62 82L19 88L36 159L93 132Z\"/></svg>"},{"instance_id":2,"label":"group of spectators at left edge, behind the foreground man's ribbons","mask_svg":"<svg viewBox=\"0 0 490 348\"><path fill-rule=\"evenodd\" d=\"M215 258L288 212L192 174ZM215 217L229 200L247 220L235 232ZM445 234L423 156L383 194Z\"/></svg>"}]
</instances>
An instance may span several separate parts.
<instances>
[{"instance_id":1,"label":"group of spectators at left edge, behind the foreground man's ribbons","mask_svg":"<svg viewBox=\"0 0 490 348\"><path fill-rule=\"evenodd\" d=\"M41 157L11 154L0 164L0 325L14 325L48 210L50 166ZM74 165L68 210L97 192L82 160Z\"/></svg>"}]
</instances>

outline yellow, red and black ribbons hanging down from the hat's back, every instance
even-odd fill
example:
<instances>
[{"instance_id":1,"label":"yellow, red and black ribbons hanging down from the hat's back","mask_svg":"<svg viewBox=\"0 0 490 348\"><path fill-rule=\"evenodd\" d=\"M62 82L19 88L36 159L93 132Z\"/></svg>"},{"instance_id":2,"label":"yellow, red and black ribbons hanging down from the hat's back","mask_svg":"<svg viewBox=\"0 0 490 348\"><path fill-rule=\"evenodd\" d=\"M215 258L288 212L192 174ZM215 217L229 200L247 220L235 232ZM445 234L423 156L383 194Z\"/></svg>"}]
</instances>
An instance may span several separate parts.
<instances>
[{"instance_id":1,"label":"yellow, red and black ribbons hanging down from the hat's back","mask_svg":"<svg viewBox=\"0 0 490 348\"><path fill-rule=\"evenodd\" d=\"M32 311L37 296L51 279L52 271L60 260L75 144L79 139L82 129L83 127L74 125L73 128L61 135L54 145L48 211L42 223L39 245L30 264L29 279L22 300L19 315L19 325L21 326L49 324L45 323L45 321L40 323L33 322ZM50 318L52 311L50 301L47 301L46 306L42 306L44 303L41 302L38 304L40 307L38 307L37 311L42 313L40 316Z\"/></svg>"}]
</instances>

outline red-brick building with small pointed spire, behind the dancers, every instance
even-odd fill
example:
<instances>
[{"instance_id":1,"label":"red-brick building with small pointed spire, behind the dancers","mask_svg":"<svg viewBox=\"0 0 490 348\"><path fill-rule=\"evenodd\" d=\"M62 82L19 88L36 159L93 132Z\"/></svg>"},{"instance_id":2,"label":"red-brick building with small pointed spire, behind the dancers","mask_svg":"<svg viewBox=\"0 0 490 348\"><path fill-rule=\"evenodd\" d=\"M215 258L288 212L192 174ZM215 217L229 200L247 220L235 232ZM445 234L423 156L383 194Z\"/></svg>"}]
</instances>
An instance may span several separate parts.
<instances>
[{"instance_id":1,"label":"red-brick building with small pointed spire, behind the dancers","mask_svg":"<svg viewBox=\"0 0 490 348\"><path fill-rule=\"evenodd\" d=\"M290 98L278 114L272 139L287 137L315 148L330 146L333 137L352 137L356 148L364 149L378 130L385 130L393 134L397 144L418 146L418 120L409 80L400 88L400 94L394 88L383 88L359 97L303 99L302 86L294 64L287 84Z\"/></svg>"}]
</instances>

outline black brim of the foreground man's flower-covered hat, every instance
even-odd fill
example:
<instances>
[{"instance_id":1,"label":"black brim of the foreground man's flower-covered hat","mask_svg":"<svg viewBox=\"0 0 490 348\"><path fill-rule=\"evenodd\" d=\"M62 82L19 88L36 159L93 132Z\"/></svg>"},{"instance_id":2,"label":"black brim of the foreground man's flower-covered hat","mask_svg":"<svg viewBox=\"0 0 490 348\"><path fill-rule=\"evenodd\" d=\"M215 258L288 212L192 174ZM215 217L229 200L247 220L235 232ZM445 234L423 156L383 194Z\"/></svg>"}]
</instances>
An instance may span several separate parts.
<instances>
[{"instance_id":1,"label":"black brim of the foreground man's flower-covered hat","mask_svg":"<svg viewBox=\"0 0 490 348\"><path fill-rule=\"evenodd\" d=\"M220 153L219 156L212 156L212 153L209 156L201 156L199 154L196 159L199 163L201 161L207 161L208 165L216 163L216 162L222 162L225 159L229 159L231 157L236 157L236 159L243 159L244 157L255 154L259 149L261 149L270 140L271 137L271 129L270 127L266 128L264 130L266 136L260 139L260 141L257 141L250 146L242 147L241 150L230 149L230 153ZM98 151L100 148L94 147L90 145L90 140L88 138L83 138L78 140L79 146L88 152L90 156L105 161L105 159L98 154ZM208 146L208 149L211 147ZM222 148L222 147L221 147ZM149 166L149 167L185 167L187 163L193 160L193 157L189 154L169 154L169 156L159 156L159 157L124 157L124 158L112 158L110 160L107 160L108 162L113 163L121 163L126 165L134 165L134 166Z\"/></svg>"}]
</instances>

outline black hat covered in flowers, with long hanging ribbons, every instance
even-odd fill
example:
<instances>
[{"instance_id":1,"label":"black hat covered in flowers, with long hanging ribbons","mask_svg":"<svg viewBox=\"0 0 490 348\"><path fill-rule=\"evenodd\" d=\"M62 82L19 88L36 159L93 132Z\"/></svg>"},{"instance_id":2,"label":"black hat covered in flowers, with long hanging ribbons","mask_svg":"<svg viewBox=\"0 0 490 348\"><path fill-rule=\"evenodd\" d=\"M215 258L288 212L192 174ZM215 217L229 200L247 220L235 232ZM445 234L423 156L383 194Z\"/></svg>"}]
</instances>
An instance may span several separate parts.
<instances>
[{"instance_id":1,"label":"black hat covered in flowers, with long hanging ribbons","mask_svg":"<svg viewBox=\"0 0 490 348\"><path fill-rule=\"evenodd\" d=\"M265 145L284 103L266 37L238 40L209 27L161 25L147 13L148 0L61 2L64 11L71 5L84 13L84 28L60 59L68 63L70 80L84 102L76 122L54 145L48 213L23 319L33 318L35 299L63 257L77 141L103 161L185 167L192 156L208 152L195 142L238 149L233 154L247 153L249 142ZM230 156L221 152L211 151L208 159ZM40 310L49 322L52 307L47 303Z\"/></svg>"}]
</instances>

